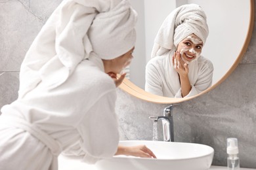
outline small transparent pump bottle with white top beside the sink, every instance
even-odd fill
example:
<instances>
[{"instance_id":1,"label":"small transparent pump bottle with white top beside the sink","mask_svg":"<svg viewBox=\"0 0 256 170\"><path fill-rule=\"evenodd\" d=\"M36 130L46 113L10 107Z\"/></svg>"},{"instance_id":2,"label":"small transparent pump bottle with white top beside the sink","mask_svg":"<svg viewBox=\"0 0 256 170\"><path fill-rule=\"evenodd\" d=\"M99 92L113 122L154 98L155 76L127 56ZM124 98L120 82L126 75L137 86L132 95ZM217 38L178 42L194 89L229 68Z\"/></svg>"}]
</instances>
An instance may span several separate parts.
<instances>
[{"instance_id":1,"label":"small transparent pump bottle with white top beside the sink","mask_svg":"<svg viewBox=\"0 0 256 170\"><path fill-rule=\"evenodd\" d=\"M226 139L227 147L226 153L228 154L228 170L239 170L240 160L238 158L238 139Z\"/></svg>"}]
</instances>

